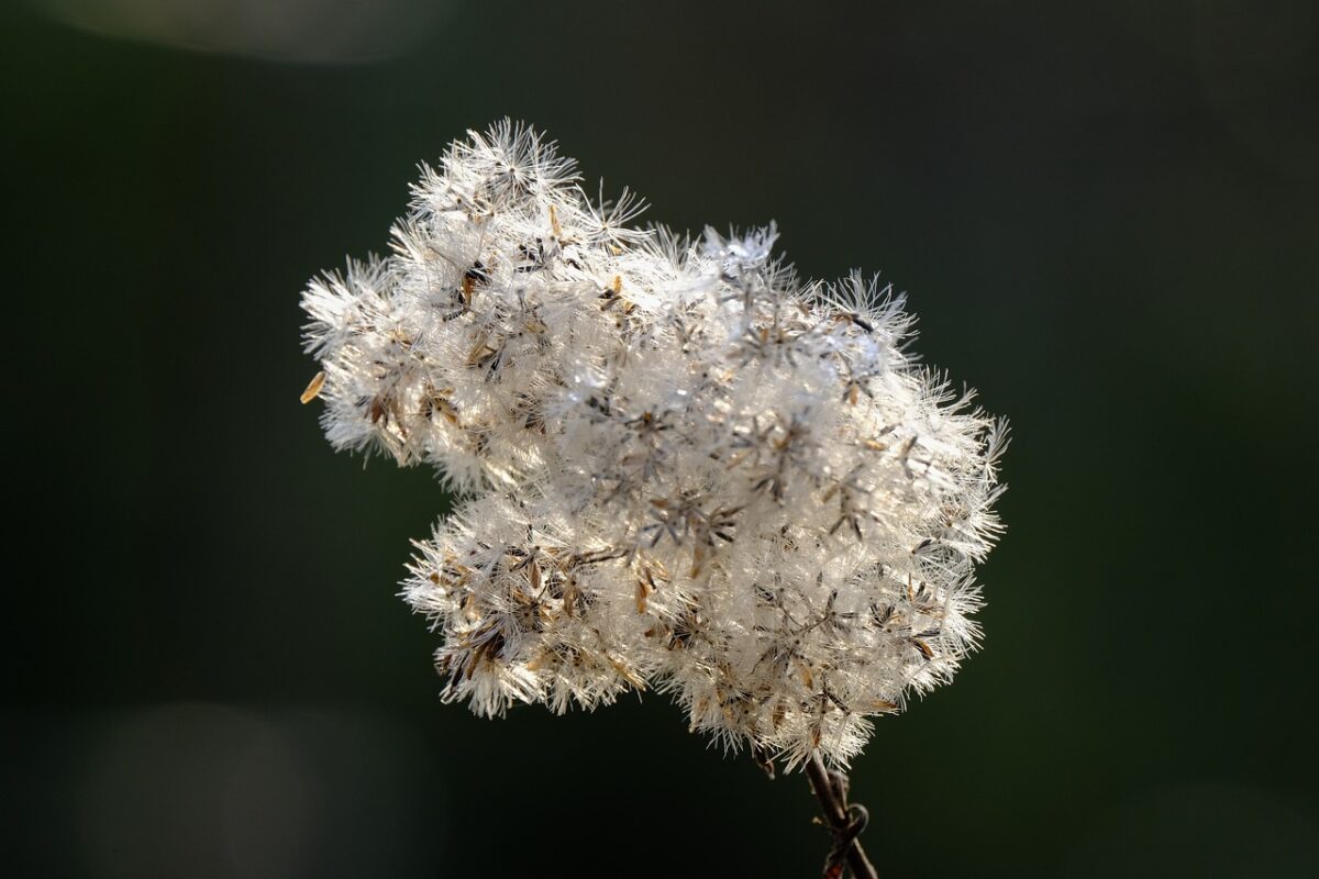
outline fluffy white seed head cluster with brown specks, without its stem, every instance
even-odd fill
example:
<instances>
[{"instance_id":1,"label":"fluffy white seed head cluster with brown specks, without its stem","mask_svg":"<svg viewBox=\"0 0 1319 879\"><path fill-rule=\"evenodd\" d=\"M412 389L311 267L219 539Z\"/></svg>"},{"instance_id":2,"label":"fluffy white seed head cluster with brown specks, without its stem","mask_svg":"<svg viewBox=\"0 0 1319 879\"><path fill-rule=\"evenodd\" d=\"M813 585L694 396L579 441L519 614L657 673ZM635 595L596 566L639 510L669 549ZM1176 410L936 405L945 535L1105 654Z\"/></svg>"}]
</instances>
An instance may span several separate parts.
<instances>
[{"instance_id":1,"label":"fluffy white seed head cluster with brown specks, without its stem","mask_svg":"<svg viewBox=\"0 0 1319 879\"><path fill-rule=\"evenodd\" d=\"M402 593L445 696L657 688L725 746L843 763L976 643L1001 426L913 364L890 289L803 283L773 227L638 231L576 181L472 132L389 257L303 298L330 441L460 498Z\"/></svg>"}]
</instances>

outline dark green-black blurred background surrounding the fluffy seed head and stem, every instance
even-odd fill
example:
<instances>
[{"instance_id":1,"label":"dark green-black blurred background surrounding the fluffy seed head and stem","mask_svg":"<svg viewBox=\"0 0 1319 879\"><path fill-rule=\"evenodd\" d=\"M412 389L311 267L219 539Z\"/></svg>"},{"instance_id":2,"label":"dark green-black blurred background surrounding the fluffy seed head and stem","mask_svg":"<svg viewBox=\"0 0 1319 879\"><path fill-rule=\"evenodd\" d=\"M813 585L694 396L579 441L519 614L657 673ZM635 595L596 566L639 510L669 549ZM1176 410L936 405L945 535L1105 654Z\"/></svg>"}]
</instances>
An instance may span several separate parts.
<instances>
[{"instance_id":1,"label":"dark green-black blurred background surrounding the fluffy seed head and stem","mask_svg":"<svg viewBox=\"0 0 1319 879\"><path fill-rule=\"evenodd\" d=\"M1319 875L1319 7L12 0L7 875L814 876L646 696L446 706L434 476L335 456L309 277L505 115L910 294L1013 422L984 650L852 775L885 876Z\"/></svg>"}]
</instances>

